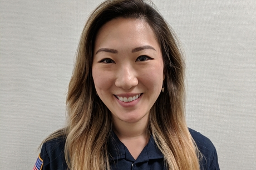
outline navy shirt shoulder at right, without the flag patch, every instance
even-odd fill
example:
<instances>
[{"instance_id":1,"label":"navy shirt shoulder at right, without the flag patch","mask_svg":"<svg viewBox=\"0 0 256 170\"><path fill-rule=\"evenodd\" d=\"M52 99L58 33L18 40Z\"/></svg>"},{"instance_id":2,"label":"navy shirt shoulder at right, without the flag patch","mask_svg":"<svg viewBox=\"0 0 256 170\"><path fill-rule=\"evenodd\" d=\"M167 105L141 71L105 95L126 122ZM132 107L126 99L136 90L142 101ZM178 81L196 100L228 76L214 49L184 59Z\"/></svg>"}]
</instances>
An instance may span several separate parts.
<instances>
[{"instance_id":1,"label":"navy shirt shoulder at right, without the flag patch","mask_svg":"<svg viewBox=\"0 0 256 170\"><path fill-rule=\"evenodd\" d=\"M189 128L189 132L203 155L200 161L201 169L219 169L216 148L209 138L191 128Z\"/></svg>"}]
</instances>

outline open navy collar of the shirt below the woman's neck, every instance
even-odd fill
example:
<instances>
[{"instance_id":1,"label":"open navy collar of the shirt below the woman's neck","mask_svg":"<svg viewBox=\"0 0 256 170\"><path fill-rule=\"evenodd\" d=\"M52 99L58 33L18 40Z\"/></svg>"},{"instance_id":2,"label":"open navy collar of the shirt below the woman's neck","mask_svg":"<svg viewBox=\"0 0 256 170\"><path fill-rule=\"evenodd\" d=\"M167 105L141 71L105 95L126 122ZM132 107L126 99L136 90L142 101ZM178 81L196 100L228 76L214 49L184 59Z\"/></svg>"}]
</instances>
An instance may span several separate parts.
<instances>
[{"instance_id":1,"label":"open navy collar of the shirt below the woman's neck","mask_svg":"<svg viewBox=\"0 0 256 170\"><path fill-rule=\"evenodd\" d=\"M111 132L111 136L108 142L109 158L110 160L127 159L127 161L135 162L135 159L131 156L127 147L116 136L115 132ZM150 136L149 143L141 151L136 162L149 161L150 159L164 158L163 154L156 146L155 140Z\"/></svg>"}]
</instances>

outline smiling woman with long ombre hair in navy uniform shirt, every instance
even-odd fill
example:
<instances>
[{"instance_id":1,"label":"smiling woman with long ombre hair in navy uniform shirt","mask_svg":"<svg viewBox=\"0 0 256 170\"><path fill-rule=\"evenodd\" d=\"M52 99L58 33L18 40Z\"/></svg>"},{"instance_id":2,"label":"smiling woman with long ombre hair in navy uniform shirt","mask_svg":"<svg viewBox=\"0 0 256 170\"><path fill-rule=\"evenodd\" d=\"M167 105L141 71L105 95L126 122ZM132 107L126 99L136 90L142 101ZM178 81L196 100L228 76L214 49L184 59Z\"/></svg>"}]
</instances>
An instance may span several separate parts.
<instances>
[{"instance_id":1,"label":"smiling woman with long ombre hair in navy uniform shirt","mask_svg":"<svg viewBox=\"0 0 256 170\"><path fill-rule=\"evenodd\" d=\"M43 141L38 169L219 169L210 140L186 126L184 61L143 0L105 1L83 29L67 127Z\"/></svg>"}]
</instances>

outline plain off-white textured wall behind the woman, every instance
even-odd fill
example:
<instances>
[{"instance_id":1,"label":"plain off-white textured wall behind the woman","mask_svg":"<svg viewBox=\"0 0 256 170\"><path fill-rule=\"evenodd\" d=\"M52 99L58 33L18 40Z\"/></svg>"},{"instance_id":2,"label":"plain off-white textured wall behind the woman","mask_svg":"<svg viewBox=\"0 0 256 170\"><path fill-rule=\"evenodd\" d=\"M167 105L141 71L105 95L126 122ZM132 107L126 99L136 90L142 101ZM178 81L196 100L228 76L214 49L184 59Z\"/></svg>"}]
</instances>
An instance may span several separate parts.
<instances>
[{"instance_id":1,"label":"plain off-white textured wall behind the woman","mask_svg":"<svg viewBox=\"0 0 256 170\"><path fill-rule=\"evenodd\" d=\"M65 125L83 25L101 1L0 1L0 169L32 169ZM154 1L186 54L188 126L221 169L256 167L256 1Z\"/></svg>"}]
</instances>

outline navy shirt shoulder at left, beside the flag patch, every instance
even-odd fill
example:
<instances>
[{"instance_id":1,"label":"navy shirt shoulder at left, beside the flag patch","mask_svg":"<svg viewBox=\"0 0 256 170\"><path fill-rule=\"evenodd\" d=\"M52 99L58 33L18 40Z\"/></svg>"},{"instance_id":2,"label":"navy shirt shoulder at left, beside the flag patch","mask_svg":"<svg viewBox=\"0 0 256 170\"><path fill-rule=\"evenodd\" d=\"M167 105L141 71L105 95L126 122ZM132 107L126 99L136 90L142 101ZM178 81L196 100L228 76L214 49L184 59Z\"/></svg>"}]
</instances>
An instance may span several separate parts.
<instances>
[{"instance_id":1,"label":"navy shirt shoulder at left, beside the flag patch","mask_svg":"<svg viewBox=\"0 0 256 170\"><path fill-rule=\"evenodd\" d=\"M40 157L43 161L42 169L67 169L65 161L65 137L54 138L43 143Z\"/></svg>"}]
</instances>

